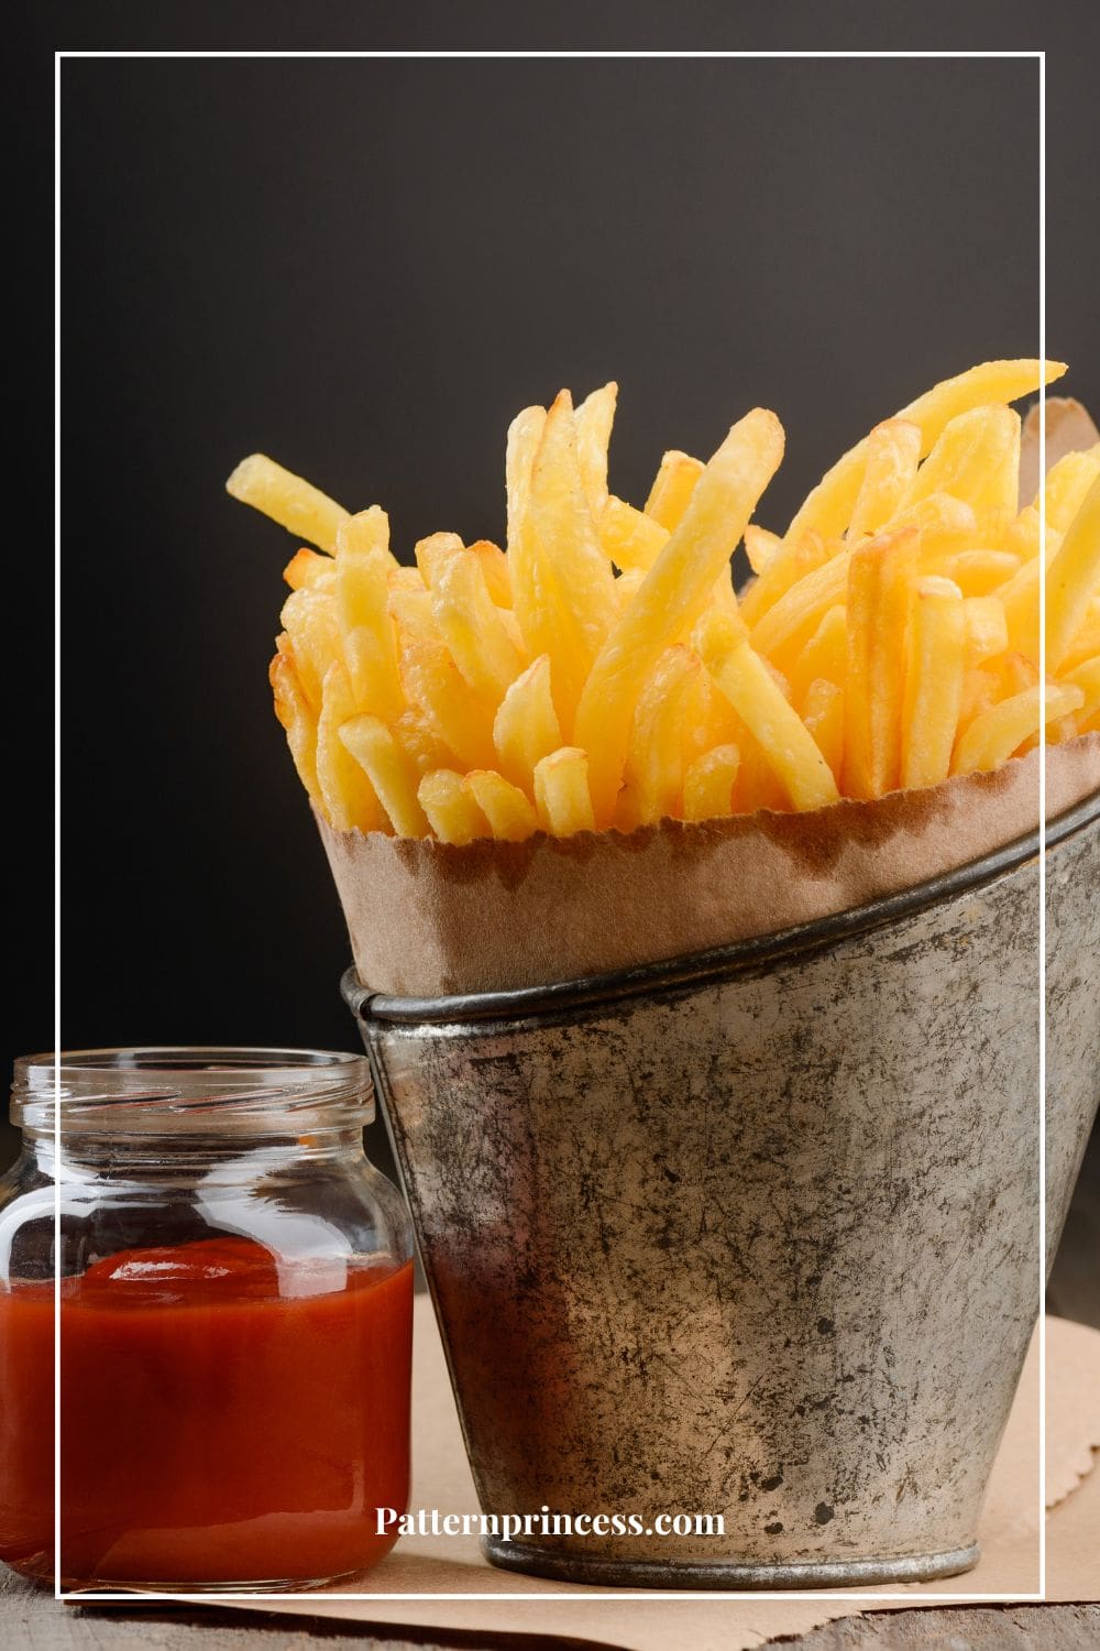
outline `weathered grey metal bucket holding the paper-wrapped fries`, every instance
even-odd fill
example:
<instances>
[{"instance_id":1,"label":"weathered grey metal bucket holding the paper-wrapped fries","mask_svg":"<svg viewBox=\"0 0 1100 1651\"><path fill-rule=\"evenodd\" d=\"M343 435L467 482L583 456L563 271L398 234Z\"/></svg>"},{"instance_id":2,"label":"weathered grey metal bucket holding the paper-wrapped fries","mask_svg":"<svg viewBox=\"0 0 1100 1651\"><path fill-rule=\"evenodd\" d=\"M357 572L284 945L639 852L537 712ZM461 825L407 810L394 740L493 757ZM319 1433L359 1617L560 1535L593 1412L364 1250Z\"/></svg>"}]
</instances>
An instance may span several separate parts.
<instances>
[{"instance_id":1,"label":"weathered grey metal bucket holding the paper-wrapped fries","mask_svg":"<svg viewBox=\"0 0 1100 1651\"><path fill-rule=\"evenodd\" d=\"M1051 1253L1100 1093L1100 796L1047 830ZM585 1583L948 1577L1039 1308L1039 859L546 989L345 996L488 1539ZM719 1535L656 1535L661 1514Z\"/></svg>"}]
</instances>

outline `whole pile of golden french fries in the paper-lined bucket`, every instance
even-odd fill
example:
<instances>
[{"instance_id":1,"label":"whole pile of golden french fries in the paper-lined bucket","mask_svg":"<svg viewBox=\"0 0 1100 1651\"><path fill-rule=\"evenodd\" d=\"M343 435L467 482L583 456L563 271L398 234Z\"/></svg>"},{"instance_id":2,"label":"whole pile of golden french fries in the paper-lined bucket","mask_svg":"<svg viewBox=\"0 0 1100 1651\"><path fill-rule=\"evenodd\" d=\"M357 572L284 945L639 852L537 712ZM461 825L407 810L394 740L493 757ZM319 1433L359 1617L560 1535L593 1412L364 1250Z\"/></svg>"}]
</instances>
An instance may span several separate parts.
<instances>
[{"instance_id":1,"label":"whole pile of golden french fries in the paper-lined bucket","mask_svg":"<svg viewBox=\"0 0 1100 1651\"><path fill-rule=\"evenodd\" d=\"M666 452L638 510L607 487L615 385L513 421L506 550L432 533L401 566L378 505L351 515L246 459L229 492L317 546L285 570L270 665L315 807L447 844L633 830L933 786L1042 728L1100 728L1100 446L1018 509L1009 403L1042 376L988 362L937 385L782 537L752 520L783 456L773 413L706 466Z\"/></svg>"}]
</instances>

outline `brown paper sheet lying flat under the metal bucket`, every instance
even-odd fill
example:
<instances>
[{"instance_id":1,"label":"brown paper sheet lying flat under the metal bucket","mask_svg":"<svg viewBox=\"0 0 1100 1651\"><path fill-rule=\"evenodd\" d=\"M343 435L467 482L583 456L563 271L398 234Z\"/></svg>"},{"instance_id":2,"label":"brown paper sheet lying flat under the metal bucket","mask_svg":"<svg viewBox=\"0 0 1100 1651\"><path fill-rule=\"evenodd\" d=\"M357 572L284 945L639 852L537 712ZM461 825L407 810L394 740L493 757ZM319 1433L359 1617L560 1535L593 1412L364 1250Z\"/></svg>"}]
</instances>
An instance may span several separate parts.
<instances>
[{"instance_id":1,"label":"brown paper sheet lying flat under the metal bucket","mask_svg":"<svg viewBox=\"0 0 1100 1651\"><path fill-rule=\"evenodd\" d=\"M933 1605L937 1597L983 1600L1039 1588L1039 1344L1024 1365L1016 1402L993 1468L980 1524L983 1555L965 1577L896 1583L874 1592L876 1610ZM477 1512L442 1346L430 1304L416 1304L412 1380L414 1473L411 1507ZM1047 1484L1059 1506L1047 1522L1047 1597L1095 1598L1100 1580L1100 1474L1088 1471L1100 1448L1100 1332L1047 1319ZM1079 1479L1085 1466L1084 1479ZM1065 1489L1067 1486L1074 1489ZM341 1592L350 1592L343 1585ZM820 1600L716 1600L706 1595L623 1598L613 1588L582 1588L495 1570L475 1537L406 1537L355 1592L335 1600L272 1601L270 1610L366 1623L572 1636L627 1651L742 1651L778 1634L806 1633L866 1608L859 1590ZM384 1595L411 1593L411 1600ZM462 1595L485 1593L475 1600ZM458 1595L440 1598L439 1595ZM521 1595L521 1598L501 1598ZM247 1601L239 1601L247 1605Z\"/></svg>"}]
</instances>

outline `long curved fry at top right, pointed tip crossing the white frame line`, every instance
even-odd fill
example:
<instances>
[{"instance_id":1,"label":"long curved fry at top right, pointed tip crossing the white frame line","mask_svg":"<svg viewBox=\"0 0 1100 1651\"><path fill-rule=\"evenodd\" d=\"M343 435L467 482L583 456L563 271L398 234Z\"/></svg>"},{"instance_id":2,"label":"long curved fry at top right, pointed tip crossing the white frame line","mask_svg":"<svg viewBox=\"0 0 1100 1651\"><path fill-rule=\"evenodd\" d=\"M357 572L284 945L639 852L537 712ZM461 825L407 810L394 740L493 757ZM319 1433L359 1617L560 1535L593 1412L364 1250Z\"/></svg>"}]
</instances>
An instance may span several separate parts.
<instances>
[{"instance_id":1,"label":"long curved fry at top right, pointed tip crossing the white frame line","mask_svg":"<svg viewBox=\"0 0 1100 1651\"><path fill-rule=\"evenodd\" d=\"M980 367L960 373L958 378L945 378L896 416L919 426L920 451L925 454L932 451L943 429L960 413L991 403L1019 401L1021 396L1037 390L1041 383L1054 383L1064 371L1062 362L1047 362L1046 373L1042 362L983 362ZM816 528L823 538L834 538L844 532L867 469L867 442L869 438L856 442L823 475L790 523L787 538L797 538L808 528Z\"/></svg>"}]
</instances>

